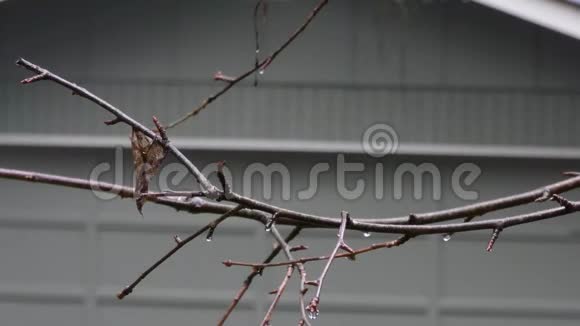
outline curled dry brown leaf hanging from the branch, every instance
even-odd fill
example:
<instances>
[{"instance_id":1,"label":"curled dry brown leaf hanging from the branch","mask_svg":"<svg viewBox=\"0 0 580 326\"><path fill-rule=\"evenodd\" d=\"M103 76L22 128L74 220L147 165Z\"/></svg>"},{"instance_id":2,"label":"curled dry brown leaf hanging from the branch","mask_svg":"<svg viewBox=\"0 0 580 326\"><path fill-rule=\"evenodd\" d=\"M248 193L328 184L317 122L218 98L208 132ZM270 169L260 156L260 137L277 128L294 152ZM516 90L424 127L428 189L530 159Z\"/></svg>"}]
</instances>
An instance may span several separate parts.
<instances>
[{"instance_id":1,"label":"curled dry brown leaf hanging from the branch","mask_svg":"<svg viewBox=\"0 0 580 326\"><path fill-rule=\"evenodd\" d=\"M133 128L131 132L131 151L135 168L135 194L139 213L145 203L144 193L149 191L149 181L157 173L161 162L167 154L165 147L158 141L152 141L141 131Z\"/></svg>"}]
</instances>

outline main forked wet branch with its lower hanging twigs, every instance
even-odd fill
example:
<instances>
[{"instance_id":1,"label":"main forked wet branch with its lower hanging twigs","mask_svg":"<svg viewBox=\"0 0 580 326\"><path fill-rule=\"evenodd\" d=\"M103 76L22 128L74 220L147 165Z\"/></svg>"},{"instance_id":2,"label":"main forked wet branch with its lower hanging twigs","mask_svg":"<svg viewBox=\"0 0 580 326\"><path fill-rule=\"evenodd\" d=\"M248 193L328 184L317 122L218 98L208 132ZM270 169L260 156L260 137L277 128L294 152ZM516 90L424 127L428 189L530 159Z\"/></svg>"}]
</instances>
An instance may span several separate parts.
<instances>
[{"instance_id":1,"label":"main forked wet branch with its lower hanging twigs","mask_svg":"<svg viewBox=\"0 0 580 326\"><path fill-rule=\"evenodd\" d=\"M325 3L324 1L322 3ZM275 53L276 54L276 53ZM208 239L211 239L213 231L217 227L219 223L225 220L229 216L239 216L243 218L249 218L252 220L259 221L266 226L266 229L276 230L274 227L274 223L277 224L287 224L287 225L294 225L296 227L323 227L323 228L332 228L332 227L339 227L339 241L336 244L335 249L331 253L331 255L327 257L310 257L310 258L302 258L295 260L291 255L291 248L288 246L287 243L283 242L281 237L277 237L279 240L280 246L286 253L288 257L287 262L282 263L265 263L260 266L256 264L246 264L253 266L257 270L261 270L264 267L269 266L288 266L287 276L283 279L278 291L276 293L275 299L272 302L271 309L268 311L267 315L264 318L264 323L269 323L271 318L271 314L273 309L276 307L277 302L282 295L288 278L290 277L292 271L295 267L298 267L301 276L301 291L300 291L300 302L301 302L301 310L302 310L302 321L301 323L308 323L308 320L304 317L304 294L306 293L306 284L313 284L317 285L318 289L316 291L316 295L311 300L310 304L308 305L307 309L311 317L315 317L318 314L318 304L320 301L320 293L322 288L322 283L326 274L329 271L330 265L335 258L340 257L349 257L353 258L357 254L361 254L364 252L368 252L371 250L376 250L379 248L391 247L394 245L400 245L401 243L406 242L411 237L423 235L423 234L452 234L456 232L466 232L466 231L473 231L473 230L483 230L483 229L491 229L493 230L493 235L489 244L487 246L487 250L491 251L493 248L494 243L496 242L499 233L511 226L524 224L524 223L531 223L535 221L539 221L542 219L553 218L557 216L567 215L572 212L576 212L580 210L580 203L569 201L561 196L560 193L568 191L570 189L574 189L580 186L580 176L575 174L568 173L567 175L572 175L573 177L564 181L560 181L542 188L538 188L533 191L529 191L522 194L517 194L513 196L502 197L495 200L490 200L486 202L476 203L472 205L467 205L463 207L458 207L454 209L442 210L437 212L430 212L430 213L423 213L423 214L409 214L405 217L395 217L395 218L350 218L343 214L342 219L336 219L332 217L324 217L324 216L316 216L308 213L293 211L281 207L277 207L268 203L264 203L261 201L254 200L252 198L248 198L237 194L231 190L230 185L227 183L225 176L223 174L223 163L218 164L218 177L220 179L220 183L222 184L223 191L219 191L215 186L213 186L206 178L199 172L199 170L195 167L191 161L189 161L177 148L175 148L169 141L169 138L165 132L165 128L161 126L159 121L154 118L154 124L156 125L158 134L153 132L151 129L141 125L131 117L127 116L125 113L120 111L119 109L115 108L111 104L105 102L104 100L100 99L96 95L90 93L86 89L79 87L76 84L73 84L58 75L51 73L50 71L36 66L24 59L20 59L17 62L18 65L26 67L27 69L36 72L38 75L33 76L31 78L23 80L23 83L32 83L40 80L50 80L54 81L68 89L71 89L75 94L80 95L89 99L90 101L98 104L102 108L106 109L107 111L111 112L115 118L111 121L108 121L107 124L116 124L119 122L124 122L134 128L134 130L139 130L144 135L150 137L152 141L159 142L163 144L163 146L168 150L171 151L174 155L177 156L179 161L183 163L188 170L194 175L194 177L198 180L198 182L202 185L205 191L202 192L194 192L189 191L187 192L187 197L208 197L209 199L215 200L225 200L230 203L235 203L235 206L227 205L227 204L220 204L210 201L200 200L197 203L188 203L182 200L171 199L171 197L175 197L175 193L171 192L158 192L158 193L149 193L144 192L140 194L143 198L146 198L149 201L174 207L178 210L186 210L191 213L199 213L199 212L209 212L209 213L216 213L222 214L217 220L214 222L206 225L204 228L200 229L195 234L191 235L190 237L186 238L185 240L181 240L179 238L176 239L176 246L170 252L168 252L165 256L159 259L156 263L154 263L150 268L148 268L145 272L143 272L135 282L125 288L121 293L119 293L118 297L122 299L126 295L130 294L134 287L139 284L149 273L151 273L155 268L157 268L161 263L163 263L166 259L168 259L171 255L177 252L181 247L183 247L186 243L194 239L195 237L199 236L199 234L208 231ZM266 62L264 65L267 65ZM263 66L261 66L263 67ZM8 170L8 169L0 169L0 177L5 178L12 178L12 179L20 179L32 182L40 182L40 183L49 183L49 184L56 184L56 185L63 185L68 187L74 188L82 188L82 189L93 189L99 191L106 191L116 193L121 197L134 197L135 191L128 187L123 187L121 185L113 185L103 182L93 182L89 180L81 180L75 178L66 178L62 176L54 176L54 175L47 175L47 174L40 174L28 171L19 171L19 170ZM184 193L179 193L184 194ZM546 200L553 200L560 204L560 207L551 208L540 210L532 213L521 214L517 216L505 217L501 219L489 219L483 221L472 221L472 219L476 216L481 216L489 212L499 211L502 209L521 206L525 204L529 204L532 202L541 202ZM438 224L438 225L429 225L438 222L445 222L454 219L464 219L463 223L449 223L449 224ZM351 249L346 245L344 242L344 232L346 229L353 229L359 231L366 231L366 232L381 232L381 233L396 233L402 234L403 237L397 239L395 242L387 242L379 245L373 245L368 248L359 249L358 251ZM277 231L275 232L277 233ZM281 241L281 242L280 242ZM342 248L347 251L347 253L338 254L338 250ZM317 281L314 282L307 282L306 281L306 272L304 270L303 263L307 261L313 260L327 260L327 264L323 270L323 273L319 277ZM232 265L243 265L243 263L234 263L228 261L225 263L227 266ZM245 286L245 285L244 285ZM249 287L242 287L240 292L236 297L241 298L241 296ZM234 303L230 306L231 309L235 307L237 302L239 301L234 299ZM224 320L227 316L231 313L231 310L228 309L226 314L224 315Z\"/></svg>"}]
</instances>

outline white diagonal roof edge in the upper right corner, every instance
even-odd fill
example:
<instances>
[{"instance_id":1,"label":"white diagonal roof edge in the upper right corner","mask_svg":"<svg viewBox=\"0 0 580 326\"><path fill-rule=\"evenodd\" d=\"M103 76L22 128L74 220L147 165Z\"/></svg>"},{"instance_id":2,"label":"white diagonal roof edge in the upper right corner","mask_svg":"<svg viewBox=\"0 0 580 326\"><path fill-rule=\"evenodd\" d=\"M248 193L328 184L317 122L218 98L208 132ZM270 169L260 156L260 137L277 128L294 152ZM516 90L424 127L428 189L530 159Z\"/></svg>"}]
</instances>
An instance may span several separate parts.
<instances>
[{"instance_id":1,"label":"white diagonal roof edge in the upper right corner","mask_svg":"<svg viewBox=\"0 0 580 326\"><path fill-rule=\"evenodd\" d=\"M473 0L556 32L580 39L580 7L562 0Z\"/></svg>"}]
</instances>

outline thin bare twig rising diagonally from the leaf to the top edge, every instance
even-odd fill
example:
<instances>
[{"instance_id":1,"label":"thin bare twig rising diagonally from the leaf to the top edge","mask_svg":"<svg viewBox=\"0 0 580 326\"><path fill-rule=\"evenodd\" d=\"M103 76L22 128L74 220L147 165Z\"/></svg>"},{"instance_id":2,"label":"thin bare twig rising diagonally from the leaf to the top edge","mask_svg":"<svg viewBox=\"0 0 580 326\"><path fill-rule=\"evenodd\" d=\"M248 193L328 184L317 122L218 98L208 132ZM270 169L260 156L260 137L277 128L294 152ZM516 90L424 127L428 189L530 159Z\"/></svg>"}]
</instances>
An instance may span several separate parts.
<instances>
[{"instance_id":1,"label":"thin bare twig rising diagonally from the leaf to the top edge","mask_svg":"<svg viewBox=\"0 0 580 326\"><path fill-rule=\"evenodd\" d=\"M314 9L310 12L308 17L304 21L304 23L302 25L300 25L300 27L298 27L298 29L296 29L296 31L294 31L294 33L292 35L290 35L290 37L286 40L286 42L284 42L278 49L276 49L274 52L272 52L268 57L264 58L257 65L254 65L254 67L252 67L252 69L244 72L243 74L241 74L238 77L229 81L221 90L219 90L217 93L214 93L213 95L211 95L208 98L206 98L205 100L203 100L197 108L193 109L188 114L186 114L183 117L172 122L171 124L169 124L167 126L167 128L173 128L173 127L181 124L185 120L187 120L193 116L196 116L197 114L199 114L199 112L203 111L211 102L215 101L217 98L219 98L220 96L225 94L230 88L234 87L237 83L246 79L246 77L252 75L253 73L255 73L258 70L266 69L276 59L276 57L280 53L282 53L282 51L284 51L296 38L298 38L298 36L302 32L304 32L306 27L308 27L308 25L312 22L314 17L316 17L316 15L318 15L320 10L322 10L322 8L327 3L328 3L328 0L320 1L320 3L318 3L318 5L316 7L314 7Z\"/></svg>"}]
</instances>

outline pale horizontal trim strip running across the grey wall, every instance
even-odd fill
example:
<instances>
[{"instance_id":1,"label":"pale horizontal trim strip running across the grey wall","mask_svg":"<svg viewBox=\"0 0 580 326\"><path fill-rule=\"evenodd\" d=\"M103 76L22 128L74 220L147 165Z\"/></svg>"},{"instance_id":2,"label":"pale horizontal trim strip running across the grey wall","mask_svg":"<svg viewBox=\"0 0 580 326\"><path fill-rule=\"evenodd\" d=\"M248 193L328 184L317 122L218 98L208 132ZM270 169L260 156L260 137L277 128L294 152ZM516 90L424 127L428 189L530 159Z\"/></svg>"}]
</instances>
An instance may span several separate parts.
<instances>
[{"instance_id":1,"label":"pale horizontal trim strip running across the grey wall","mask_svg":"<svg viewBox=\"0 0 580 326\"><path fill-rule=\"evenodd\" d=\"M292 140L172 138L184 150L256 151L290 153L364 154L360 142ZM129 137L0 133L0 147L114 148L129 147ZM439 157L489 157L524 159L580 159L580 149L557 146L400 143L393 155Z\"/></svg>"}]
</instances>

